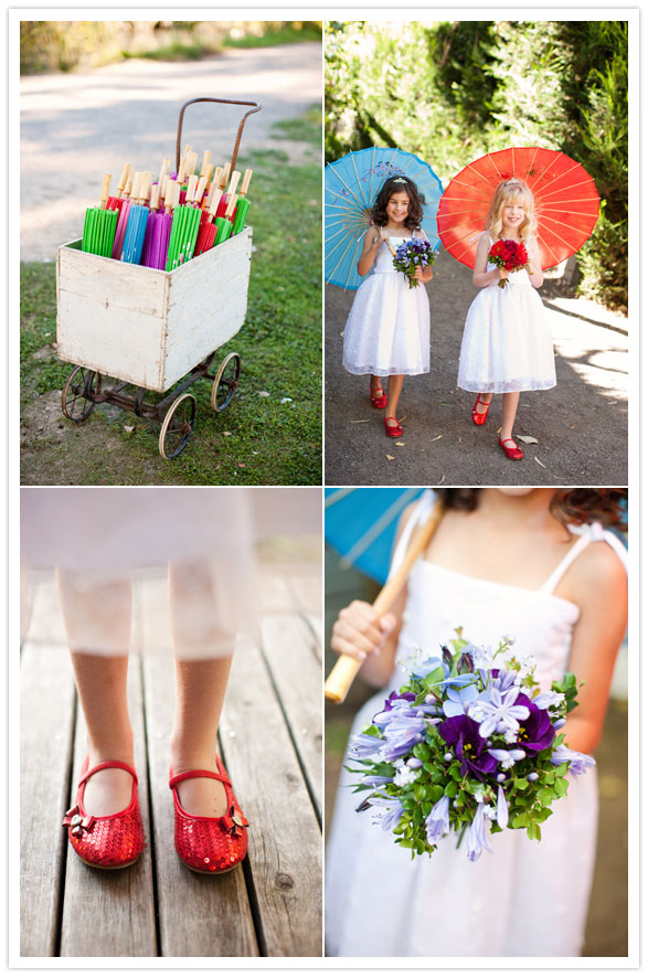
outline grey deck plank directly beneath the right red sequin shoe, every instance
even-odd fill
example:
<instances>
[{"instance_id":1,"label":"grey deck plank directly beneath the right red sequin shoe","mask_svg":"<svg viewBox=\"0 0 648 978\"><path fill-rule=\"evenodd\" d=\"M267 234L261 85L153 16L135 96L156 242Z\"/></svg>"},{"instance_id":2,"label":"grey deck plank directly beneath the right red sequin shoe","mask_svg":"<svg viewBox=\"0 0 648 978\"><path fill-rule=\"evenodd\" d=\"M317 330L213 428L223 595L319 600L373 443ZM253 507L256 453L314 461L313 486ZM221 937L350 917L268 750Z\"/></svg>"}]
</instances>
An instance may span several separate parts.
<instances>
[{"instance_id":1,"label":"grey deck plank directly beneath the right red sequin shoe","mask_svg":"<svg viewBox=\"0 0 648 978\"><path fill-rule=\"evenodd\" d=\"M173 848L173 802L169 789L173 659L168 651L146 650L148 640L155 639L156 645L160 641L153 623L159 623L163 614L166 583L144 582L141 598L161 954L164 957L254 957L258 955L258 946L242 867L215 878L193 873L180 862Z\"/></svg>"}]
</instances>

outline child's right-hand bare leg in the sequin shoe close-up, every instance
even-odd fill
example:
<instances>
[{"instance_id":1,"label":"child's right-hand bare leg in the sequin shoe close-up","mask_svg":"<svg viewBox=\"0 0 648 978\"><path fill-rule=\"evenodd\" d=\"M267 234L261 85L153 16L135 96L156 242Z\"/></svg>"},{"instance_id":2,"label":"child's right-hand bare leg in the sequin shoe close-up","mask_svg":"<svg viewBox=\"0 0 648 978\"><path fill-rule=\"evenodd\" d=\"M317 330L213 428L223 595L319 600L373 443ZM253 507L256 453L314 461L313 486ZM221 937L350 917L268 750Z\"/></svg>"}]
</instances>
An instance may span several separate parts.
<instances>
[{"instance_id":1,"label":"child's right-hand bare leg in the sequin shoe close-up","mask_svg":"<svg viewBox=\"0 0 648 978\"><path fill-rule=\"evenodd\" d=\"M171 734L173 774L202 768L216 772L216 732L227 688L232 655L214 656L226 641L219 620L215 580L208 562L169 565L171 625L176 647L176 715ZM231 636L234 647L234 636ZM200 658L189 658L192 651ZM180 652L180 656L178 655ZM185 658L187 657L187 658ZM178 785L180 804L199 816L221 816L227 802L213 778Z\"/></svg>"}]
</instances>

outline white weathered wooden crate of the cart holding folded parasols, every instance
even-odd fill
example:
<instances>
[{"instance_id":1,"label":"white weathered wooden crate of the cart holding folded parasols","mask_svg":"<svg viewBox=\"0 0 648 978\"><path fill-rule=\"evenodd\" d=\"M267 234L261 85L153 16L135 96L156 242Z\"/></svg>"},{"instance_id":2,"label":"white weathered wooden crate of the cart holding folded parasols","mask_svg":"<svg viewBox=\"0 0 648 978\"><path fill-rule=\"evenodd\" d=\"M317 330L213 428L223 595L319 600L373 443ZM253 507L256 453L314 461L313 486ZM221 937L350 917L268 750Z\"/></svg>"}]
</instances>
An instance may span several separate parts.
<instances>
[{"instance_id":1,"label":"white weathered wooden crate of the cart holding folded parasols","mask_svg":"<svg viewBox=\"0 0 648 978\"><path fill-rule=\"evenodd\" d=\"M173 272L81 251L56 252L61 360L168 391L235 336L247 310L252 228Z\"/></svg>"}]
</instances>

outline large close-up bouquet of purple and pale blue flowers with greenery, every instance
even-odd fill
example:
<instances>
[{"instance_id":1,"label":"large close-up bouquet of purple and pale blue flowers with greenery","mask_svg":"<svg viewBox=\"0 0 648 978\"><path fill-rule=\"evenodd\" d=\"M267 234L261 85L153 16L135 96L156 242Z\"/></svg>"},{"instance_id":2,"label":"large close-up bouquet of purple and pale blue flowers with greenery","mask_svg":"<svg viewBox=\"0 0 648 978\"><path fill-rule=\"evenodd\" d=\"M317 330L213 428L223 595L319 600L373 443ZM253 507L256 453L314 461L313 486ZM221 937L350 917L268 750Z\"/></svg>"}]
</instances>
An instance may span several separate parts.
<instances>
[{"instance_id":1,"label":"large close-up bouquet of purple and pale blue flowers with greenery","mask_svg":"<svg viewBox=\"0 0 648 978\"><path fill-rule=\"evenodd\" d=\"M565 775L595 764L559 732L576 705L573 673L541 692L535 661L509 657L512 638L493 653L460 631L454 652L416 650L401 662L407 682L351 740L360 767L347 769L361 775L354 790L372 789L357 810L372 811L413 859L453 831L460 841L467 830L471 861L492 852L489 835L506 828L540 840L552 804L567 794Z\"/></svg>"}]
</instances>

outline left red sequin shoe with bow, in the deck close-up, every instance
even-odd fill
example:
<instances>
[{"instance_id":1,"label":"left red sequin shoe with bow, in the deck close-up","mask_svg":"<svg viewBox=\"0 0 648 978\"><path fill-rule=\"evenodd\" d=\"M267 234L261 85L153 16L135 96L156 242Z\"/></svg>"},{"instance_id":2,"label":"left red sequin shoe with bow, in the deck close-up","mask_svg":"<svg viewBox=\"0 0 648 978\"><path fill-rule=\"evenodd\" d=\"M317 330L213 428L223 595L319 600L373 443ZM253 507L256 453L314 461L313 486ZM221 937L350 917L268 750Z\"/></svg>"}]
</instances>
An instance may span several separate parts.
<instances>
[{"instance_id":1,"label":"left red sequin shoe with bow, in the deck close-up","mask_svg":"<svg viewBox=\"0 0 648 978\"><path fill-rule=\"evenodd\" d=\"M88 778L105 767L120 767L132 776L130 805L115 815L86 815L83 796ZM102 870L119 870L137 862L144 852L144 825L137 798L137 775L121 761L103 761L88 770L88 758L83 762L76 793L76 805L65 812L70 844L87 865Z\"/></svg>"}]
</instances>

